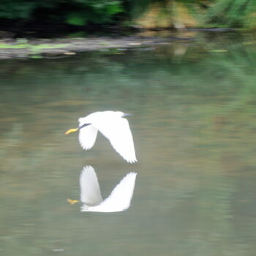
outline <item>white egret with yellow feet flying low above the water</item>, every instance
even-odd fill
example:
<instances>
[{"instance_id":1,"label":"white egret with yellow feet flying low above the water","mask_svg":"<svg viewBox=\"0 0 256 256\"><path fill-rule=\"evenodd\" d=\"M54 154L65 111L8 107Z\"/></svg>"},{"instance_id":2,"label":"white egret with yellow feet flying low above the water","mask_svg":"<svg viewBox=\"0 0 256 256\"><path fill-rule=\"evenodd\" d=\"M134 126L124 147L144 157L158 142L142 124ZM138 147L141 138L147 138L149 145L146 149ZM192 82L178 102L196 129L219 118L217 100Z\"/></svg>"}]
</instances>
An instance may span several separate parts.
<instances>
[{"instance_id":1,"label":"white egret with yellow feet flying low above the water","mask_svg":"<svg viewBox=\"0 0 256 256\"><path fill-rule=\"evenodd\" d=\"M90 149L94 146L97 138L97 132L102 133L110 140L113 148L127 162L136 162L135 147L132 139L132 132L129 129L129 123L124 116L129 114L120 111L103 111L91 113L89 116L79 118L79 127L69 129L70 132L76 132L79 129L79 142L83 149Z\"/></svg>"}]
</instances>

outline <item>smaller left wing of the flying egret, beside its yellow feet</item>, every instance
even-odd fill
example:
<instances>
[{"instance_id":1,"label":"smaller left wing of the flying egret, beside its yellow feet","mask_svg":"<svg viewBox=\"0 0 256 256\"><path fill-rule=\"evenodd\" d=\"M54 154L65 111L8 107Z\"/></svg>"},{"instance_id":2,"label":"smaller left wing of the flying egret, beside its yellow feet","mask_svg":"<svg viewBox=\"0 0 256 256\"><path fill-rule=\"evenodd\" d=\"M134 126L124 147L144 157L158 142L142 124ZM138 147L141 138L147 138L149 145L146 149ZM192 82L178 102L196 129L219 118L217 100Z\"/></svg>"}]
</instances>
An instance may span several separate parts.
<instances>
[{"instance_id":1,"label":"smaller left wing of the flying egret, beside its yellow feet","mask_svg":"<svg viewBox=\"0 0 256 256\"><path fill-rule=\"evenodd\" d=\"M97 138L97 132L98 130L91 124L79 130L79 142L83 149L88 150L94 146Z\"/></svg>"}]
</instances>

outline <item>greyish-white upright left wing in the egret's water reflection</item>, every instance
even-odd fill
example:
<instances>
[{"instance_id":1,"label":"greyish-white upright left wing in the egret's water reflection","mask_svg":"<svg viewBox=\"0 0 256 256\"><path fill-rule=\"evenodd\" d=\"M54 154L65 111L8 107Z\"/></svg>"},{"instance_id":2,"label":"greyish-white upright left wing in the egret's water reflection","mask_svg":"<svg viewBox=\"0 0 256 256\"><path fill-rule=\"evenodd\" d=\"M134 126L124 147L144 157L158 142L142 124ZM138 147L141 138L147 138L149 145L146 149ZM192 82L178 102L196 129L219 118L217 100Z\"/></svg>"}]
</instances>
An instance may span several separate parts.
<instances>
[{"instance_id":1,"label":"greyish-white upright left wing in the egret's water reflection","mask_svg":"<svg viewBox=\"0 0 256 256\"><path fill-rule=\"evenodd\" d=\"M102 202L98 178L91 165L83 167L80 174L80 201L88 206L95 206Z\"/></svg>"}]
</instances>

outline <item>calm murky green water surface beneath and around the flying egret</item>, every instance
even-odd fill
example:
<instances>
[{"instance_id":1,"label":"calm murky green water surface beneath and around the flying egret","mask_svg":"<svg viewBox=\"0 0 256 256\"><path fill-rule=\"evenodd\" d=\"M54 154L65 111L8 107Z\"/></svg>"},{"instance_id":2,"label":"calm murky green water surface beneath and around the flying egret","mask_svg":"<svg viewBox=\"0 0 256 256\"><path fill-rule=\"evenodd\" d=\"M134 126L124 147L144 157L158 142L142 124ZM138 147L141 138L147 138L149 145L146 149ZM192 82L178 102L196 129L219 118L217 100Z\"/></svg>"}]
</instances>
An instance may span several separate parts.
<instances>
[{"instance_id":1,"label":"calm murky green water surface beneath and around the flying egret","mask_svg":"<svg viewBox=\"0 0 256 256\"><path fill-rule=\"evenodd\" d=\"M0 254L255 255L255 67L255 38L232 34L0 61ZM98 110L132 113L138 163L64 135ZM130 208L69 205L84 165L103 197L138 172Z\"/></svg>"}]
</instances>

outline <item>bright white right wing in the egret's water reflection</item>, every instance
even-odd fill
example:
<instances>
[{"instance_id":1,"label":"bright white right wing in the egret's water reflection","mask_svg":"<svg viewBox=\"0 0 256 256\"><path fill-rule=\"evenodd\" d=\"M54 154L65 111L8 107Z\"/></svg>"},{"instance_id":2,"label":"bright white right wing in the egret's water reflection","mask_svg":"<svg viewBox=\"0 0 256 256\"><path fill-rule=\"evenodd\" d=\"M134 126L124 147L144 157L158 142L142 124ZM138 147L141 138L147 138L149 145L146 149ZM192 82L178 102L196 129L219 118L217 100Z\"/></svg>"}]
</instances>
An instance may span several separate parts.
<instances>
[{"instance_id":1,"label":"bright white right wing in the egret's water reflection","mask_svg":"<svg viewBox=\"0 0 256 256\"><path fill-rule=\"evenodd\" d=\"M137 173L128 173L121 179L108 198L99 206L91 207L89 211L116 212L127 210L132 200L136 176Z\"/></svg>"}]
</instances>

